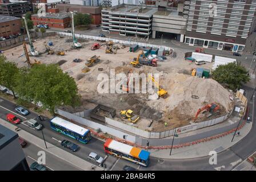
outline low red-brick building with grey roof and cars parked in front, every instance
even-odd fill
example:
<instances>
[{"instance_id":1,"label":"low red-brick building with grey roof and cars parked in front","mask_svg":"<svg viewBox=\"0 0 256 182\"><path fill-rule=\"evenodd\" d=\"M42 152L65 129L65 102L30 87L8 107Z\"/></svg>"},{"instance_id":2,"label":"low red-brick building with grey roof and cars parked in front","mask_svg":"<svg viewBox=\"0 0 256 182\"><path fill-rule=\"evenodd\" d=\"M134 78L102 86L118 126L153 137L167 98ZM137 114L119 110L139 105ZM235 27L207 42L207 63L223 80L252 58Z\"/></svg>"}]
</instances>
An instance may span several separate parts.
<instances>
[{"instance_id":1,"label":"low red-brick building with grey roof and cars parked in front","mask_svg":"<svg viewBox=\"0 0 256 182\"><path fill-rule=\"evenodd\" d=\"M48 24L49 27L67 28L70 26L70 13L46 13L45 16L34 14L31 16L34 26L38 24Z\"/></svg>"}]
</instances>

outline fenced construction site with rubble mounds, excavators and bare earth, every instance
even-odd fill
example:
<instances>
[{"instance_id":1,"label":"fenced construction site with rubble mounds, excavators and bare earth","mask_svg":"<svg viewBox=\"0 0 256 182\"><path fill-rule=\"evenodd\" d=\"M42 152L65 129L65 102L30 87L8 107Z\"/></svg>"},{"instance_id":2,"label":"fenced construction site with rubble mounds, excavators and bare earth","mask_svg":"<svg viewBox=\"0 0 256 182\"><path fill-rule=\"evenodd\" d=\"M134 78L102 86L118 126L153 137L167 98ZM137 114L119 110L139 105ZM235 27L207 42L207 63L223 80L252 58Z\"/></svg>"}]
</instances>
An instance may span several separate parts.
<instances>
[{"instance_id":1,"label":"fenced construction site with rubble mounds, excavators and bare earth","mask_svg":"<svg viewBox=\"0 0 256 182\"><path fill-rule=\"evenodd\" d=\"M29 47L30 51L26 51ZM113 42L50 36L8 49L4 55L18 67L58 64L63 72L73 77L82 105L67 107L70 113L103 105L116 111L113 115L116 121L155 132L230 113L234 106L232 92L210 77L193 76L191 72L198 65L186 61L183 52L176 51L177 56L172 56L174 53L166 51L161 53L164 56L154 57L155 51L155 48L149 50ZM200 65L206 69L211 66L211 63ZM127 76L129 73L159 73L159 83L155 83L158 98L152 100L151 93L98 93L97 86L101 81L97 77L99 73L110 76L110 69L114 69L115 74L125 73ZM150 80L154 82L154 77ZM120 89L128 91L129 88L123 84ZM99 114L109 116L105 112Z\"/></svg>"}]
</instances>

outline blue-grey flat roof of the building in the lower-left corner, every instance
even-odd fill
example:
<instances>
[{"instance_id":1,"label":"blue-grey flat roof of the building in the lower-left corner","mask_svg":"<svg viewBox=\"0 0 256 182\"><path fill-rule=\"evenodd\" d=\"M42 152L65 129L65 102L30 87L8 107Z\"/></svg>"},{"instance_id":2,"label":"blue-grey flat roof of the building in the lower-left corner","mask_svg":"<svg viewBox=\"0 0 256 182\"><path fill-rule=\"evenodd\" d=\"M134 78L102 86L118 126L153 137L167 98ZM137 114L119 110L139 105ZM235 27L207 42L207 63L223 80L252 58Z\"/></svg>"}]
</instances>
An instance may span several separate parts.
<instances>
[{"instance_id":1,"label":"blue-grey flat roof of the building in the lower-left corner","mask_svg":"<svg viewBox=\"0 0 256 182\"><path fill-rule=\"evenodd\" d=\"M17 133L0 125L0 150L16 138L18 138Z\"/></svg>"}]
</instances>

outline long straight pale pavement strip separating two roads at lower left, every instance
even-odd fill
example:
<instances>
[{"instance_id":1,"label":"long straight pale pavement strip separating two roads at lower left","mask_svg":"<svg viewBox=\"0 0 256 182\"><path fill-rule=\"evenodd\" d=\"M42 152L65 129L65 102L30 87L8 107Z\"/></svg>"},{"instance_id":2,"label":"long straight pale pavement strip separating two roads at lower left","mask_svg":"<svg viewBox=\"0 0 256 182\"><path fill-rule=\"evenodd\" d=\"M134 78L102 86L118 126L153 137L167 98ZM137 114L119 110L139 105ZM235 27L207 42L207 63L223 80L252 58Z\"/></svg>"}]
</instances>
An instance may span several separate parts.
<instances>
[{"instance_id":1,"label":"long straight pale pavement strip separating two roads at lower left","mask_svg":"<svg viewBox=\"0 0 256 182\"><path fill-rule=\"evenodd\" d=\"M54 146L53 144L50 144L46 142L47 149L45 148L45 143L42 139L35 137L34 135L28 133L24 130L15 131L15 128L17 126L12 125L11 123L4 121L0 118L0 124L7 127L10 130L13 130L15 133L18 133L19 137L22 137L23 139L27 140L30 143L33 143L35 146L38 146L39 148L42 148L43 150L50 152L51 154L57 156L58 158L65 160L68 163L73 164L75 167L78 167L85 171L93 171L91 169L92 166L95 167L94 171L102 171L103 169L101 167L95 166L81 158L78 158L77 156L70 154L69 152L66 152L65 150L62 150L59 147Z\"/></svg>"}]
</instances>

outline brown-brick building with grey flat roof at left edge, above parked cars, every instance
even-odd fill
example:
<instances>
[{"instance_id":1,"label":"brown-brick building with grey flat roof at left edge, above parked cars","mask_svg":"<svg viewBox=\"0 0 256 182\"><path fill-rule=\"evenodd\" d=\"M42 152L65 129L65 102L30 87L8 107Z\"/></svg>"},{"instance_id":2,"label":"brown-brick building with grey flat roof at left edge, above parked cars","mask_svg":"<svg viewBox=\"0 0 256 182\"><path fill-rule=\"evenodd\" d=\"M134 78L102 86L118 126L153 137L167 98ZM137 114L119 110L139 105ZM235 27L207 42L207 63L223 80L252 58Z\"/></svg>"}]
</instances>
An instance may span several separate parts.
<instances>
[{"instance_id":1,"label":"brown-brick building with grey flat roof at left edge, above parked cars","mask_svg":"<svg viewBox=\"0 0 256 182\"><path fill-rule=\"evenodd\" d=\"M21 18L0 15L0 36L9 36L21 31Z\"/></svg>"}]
</instances>

